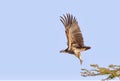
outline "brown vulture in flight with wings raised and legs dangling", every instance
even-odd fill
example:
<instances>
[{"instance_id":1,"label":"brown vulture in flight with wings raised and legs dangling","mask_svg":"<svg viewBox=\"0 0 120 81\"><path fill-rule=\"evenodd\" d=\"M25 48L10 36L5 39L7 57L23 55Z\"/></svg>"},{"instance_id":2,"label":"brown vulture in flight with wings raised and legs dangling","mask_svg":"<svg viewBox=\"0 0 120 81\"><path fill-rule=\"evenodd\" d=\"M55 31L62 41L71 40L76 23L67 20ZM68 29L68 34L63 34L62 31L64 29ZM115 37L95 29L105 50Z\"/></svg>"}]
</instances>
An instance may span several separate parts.
<instances>
[{"instance_id":1,"label":"brown vulture in flight with wings raised and legs dangling","mask_svg":"<svg viewBox=\"0 0 120 81\"><path fill-rule=\"evenodd\" d=\"M65 27L67 37L67 48L61 50L60 53L68 53L75 55L82 64L81 52L90 49L90 46L85 46L82 33L76 18L72 14L60 16L60 21Z\"/></svg>"}]
</instances>

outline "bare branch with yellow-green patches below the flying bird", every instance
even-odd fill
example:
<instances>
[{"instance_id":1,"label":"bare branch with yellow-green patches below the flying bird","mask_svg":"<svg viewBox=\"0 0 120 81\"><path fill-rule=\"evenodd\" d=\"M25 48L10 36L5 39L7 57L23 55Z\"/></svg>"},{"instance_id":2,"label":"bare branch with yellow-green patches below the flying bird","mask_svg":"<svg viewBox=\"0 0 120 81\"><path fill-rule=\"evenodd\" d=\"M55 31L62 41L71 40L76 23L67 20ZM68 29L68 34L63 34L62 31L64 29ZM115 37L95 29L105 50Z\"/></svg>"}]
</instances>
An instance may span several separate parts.
<instances>
[{"instance_id":1,"label":"bare branch with yellow-green patches below the flying bird","mask_svg":"<svg viewBox=\"0 0 120 81\"><path fill-rule=\"evenodd\" d=\"M98 75L108 75L107 78L102 79L102 81L105 80L111 80L114 78L120 78L120 66L118 65L109 65L108 68L99 67L97 64L90 64L92 67L91 70L87 70L85 68L81 69L81 76L87 77L87 76L98 76Z\"/></svg>"}]
</instances>

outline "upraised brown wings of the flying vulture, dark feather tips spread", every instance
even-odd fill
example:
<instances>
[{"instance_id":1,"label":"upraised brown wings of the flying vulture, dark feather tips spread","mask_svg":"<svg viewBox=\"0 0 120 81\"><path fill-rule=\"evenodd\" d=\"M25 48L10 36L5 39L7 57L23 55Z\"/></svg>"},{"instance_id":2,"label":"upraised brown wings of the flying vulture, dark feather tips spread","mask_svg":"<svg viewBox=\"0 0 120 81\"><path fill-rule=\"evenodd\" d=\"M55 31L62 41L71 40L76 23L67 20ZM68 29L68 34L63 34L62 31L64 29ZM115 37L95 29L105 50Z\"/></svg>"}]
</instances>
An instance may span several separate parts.
<instances>
[{"instance_id":1,"label":"upraised brown wings of the flying vulture, dark feather tips spread","mask_svg":"<svg viewBox=\"0 0 120 81\"><path fill-rule=\"evenodd\" d=\"M75 44L77 47L84 46L83 37L78 26L78 22L75 17L70 14L63 15L60 21L65 27L66 37L68 40L68 49L71 49L71 45Z\"/></svg>"}]
</instances>

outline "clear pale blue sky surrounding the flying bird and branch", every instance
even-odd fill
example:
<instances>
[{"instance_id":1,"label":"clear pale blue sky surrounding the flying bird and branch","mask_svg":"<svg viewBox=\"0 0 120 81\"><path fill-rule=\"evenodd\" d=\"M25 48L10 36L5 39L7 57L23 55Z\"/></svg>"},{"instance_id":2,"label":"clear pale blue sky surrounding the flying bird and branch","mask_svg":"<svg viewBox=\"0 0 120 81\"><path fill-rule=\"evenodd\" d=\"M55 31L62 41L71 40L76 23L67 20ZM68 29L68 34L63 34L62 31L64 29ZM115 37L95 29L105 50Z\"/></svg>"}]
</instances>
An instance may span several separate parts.
<instances>
[{"instance_id":1,"label":"clear pale blue sky surrounding the flying bird and branch","mask_svg":"<svg viewBox=\"0 0 120 81\"><path fill-rule=\"evenodd\" d=\"M0 80L93 80L90 64L119 65L120 0L0 0ZM62 14L76 16L85 45L83 65L69 54Z\"/></svg>"}]
</instances>

